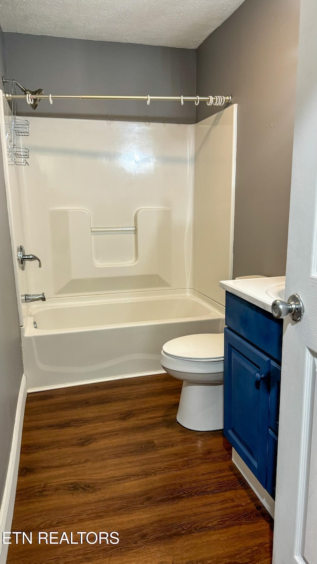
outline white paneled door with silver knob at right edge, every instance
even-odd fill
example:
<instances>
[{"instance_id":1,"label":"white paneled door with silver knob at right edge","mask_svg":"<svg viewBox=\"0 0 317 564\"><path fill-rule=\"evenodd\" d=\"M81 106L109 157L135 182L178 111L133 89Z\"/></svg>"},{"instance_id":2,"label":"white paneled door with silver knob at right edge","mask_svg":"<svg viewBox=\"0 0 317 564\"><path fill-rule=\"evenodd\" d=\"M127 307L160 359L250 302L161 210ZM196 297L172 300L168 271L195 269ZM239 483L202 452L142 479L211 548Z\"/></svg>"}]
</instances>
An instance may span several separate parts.
<instances>
[{"instance_id":1,"label":"white paneled door with silver knob at right edge","mask_svg":"<svg viewBox=\"0 0 317 564\"><path fill-rule=\"evenodd\" d=\"M317 1L302 0L285 297L305 314L284 321L274 564L317 564L316 192Z\"/></svg>"}]
</instances>

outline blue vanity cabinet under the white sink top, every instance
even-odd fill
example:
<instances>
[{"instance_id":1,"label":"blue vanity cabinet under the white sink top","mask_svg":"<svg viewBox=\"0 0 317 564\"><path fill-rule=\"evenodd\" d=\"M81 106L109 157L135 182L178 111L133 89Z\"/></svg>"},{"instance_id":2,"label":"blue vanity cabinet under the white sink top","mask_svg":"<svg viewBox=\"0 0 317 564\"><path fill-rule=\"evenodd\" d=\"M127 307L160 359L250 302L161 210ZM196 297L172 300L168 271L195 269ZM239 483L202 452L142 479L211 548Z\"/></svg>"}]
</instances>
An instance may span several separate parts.
<instances>
[{"instance_id":1,"label":"blue vanity cabinet under the white sink top","mask_svg":"<svg viewBox=\"0 0 317 564\"><path fill-rule=\"evenodd\" d=\"M283 321L226 294L224 435L275 496Z\"/></svg>"}]
</instances>

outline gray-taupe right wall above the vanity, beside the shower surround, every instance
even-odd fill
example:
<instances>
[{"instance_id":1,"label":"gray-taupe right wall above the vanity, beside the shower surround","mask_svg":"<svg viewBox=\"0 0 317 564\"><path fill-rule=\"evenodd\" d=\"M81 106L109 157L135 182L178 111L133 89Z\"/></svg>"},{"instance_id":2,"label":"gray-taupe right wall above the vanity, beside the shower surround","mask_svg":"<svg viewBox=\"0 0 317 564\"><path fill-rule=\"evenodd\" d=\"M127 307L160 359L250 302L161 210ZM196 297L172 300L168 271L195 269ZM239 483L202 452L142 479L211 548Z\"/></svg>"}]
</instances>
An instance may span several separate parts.
<instances>
[{"instance_id":1,"label":"gray-taupe right wall above the vanity, beside the shower surround","mask_svg":"<svg viewBox=\"0 0 317 564\"><path fill-rule=\"evenodd\" d=\"M238 103L234 276L285 274L299 17L300 0L245 0L197 50L197 94Z\"/></svg>"}]
</instances>

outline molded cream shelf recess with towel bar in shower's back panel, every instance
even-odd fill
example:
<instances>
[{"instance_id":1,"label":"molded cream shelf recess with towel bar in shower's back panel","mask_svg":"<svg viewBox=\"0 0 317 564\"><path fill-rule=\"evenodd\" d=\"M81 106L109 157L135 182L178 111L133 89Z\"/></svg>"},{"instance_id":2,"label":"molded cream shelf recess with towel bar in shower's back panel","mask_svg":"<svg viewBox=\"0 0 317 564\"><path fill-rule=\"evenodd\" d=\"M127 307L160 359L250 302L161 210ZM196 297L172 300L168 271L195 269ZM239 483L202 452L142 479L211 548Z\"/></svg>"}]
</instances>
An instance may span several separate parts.
<instances>
[{"instance_id":1,"label":"molded cream shelf recess with towel bar in shower's back panel","mask_svg":"<svg viewBox=\"0 0 317 564\"><path fill-rule=\"evenodd\" d=\"M91 293L91 285L100 293L100 284L109 291L121 279L129 289L169 287L170 208L138 208L133 219L134 226L91 227L87 209L50 209L55 293Z\"/></svg>"}]
</instances>

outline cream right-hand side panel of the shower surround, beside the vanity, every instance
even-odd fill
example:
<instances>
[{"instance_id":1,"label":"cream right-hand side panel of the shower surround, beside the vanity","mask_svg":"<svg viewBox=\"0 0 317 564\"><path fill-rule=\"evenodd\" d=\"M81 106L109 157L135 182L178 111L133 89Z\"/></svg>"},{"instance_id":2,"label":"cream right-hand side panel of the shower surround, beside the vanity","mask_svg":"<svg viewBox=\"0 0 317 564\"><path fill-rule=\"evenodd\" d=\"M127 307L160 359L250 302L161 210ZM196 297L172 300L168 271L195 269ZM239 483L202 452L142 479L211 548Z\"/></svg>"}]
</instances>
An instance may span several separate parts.
<instances>
[{"instance_id":1,"label":"cream right-hand side panel of the shower surround, beside the vanity","mask_svg":"<svg viewBox=\"0 0 317 564\"><path fill-rule=\"evenodd\" d=\"M224 305L232 278L237 105L195 126L192 288ZM248 274L248 273L246 273Z\"/></svg>"}]
</instances>

